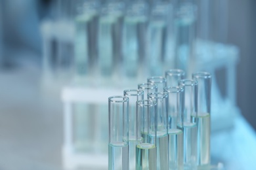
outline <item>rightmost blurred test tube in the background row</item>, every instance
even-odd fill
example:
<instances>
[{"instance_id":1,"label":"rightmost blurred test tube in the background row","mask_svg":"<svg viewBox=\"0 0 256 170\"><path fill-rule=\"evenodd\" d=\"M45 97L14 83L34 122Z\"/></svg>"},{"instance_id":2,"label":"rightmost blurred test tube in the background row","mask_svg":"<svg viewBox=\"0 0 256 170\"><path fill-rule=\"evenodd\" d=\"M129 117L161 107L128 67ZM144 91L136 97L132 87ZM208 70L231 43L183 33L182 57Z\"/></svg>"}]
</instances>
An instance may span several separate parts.
<instances>
[{"instance_id":1,"label":"rightmost blurred test tube in the background row","mask_svg":"<svg viewBox=\"0 0 256 170\"><path fill-rule=\"evenodd\" d=\"M175 68L190 73L194 65L196 40L196 5L192 0L181 0L175 5Z\"/></svg>"}]
</instances>

